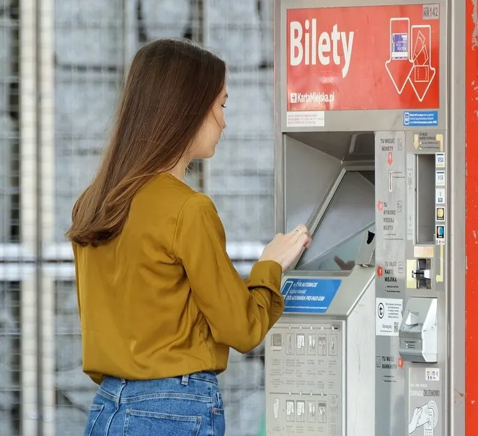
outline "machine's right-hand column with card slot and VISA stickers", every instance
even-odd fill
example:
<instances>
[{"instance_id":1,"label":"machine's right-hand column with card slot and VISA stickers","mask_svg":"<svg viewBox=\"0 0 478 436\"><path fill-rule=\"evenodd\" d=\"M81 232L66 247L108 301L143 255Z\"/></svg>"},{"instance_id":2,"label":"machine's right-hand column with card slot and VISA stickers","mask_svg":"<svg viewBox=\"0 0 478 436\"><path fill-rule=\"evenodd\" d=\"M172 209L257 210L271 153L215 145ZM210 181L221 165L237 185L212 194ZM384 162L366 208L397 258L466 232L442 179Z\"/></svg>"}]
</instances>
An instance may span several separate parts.
<instances>
[{"instance_id":1,"label":"machine's right-hand column with card slot and VISA stickers","mask_svg":"<svg viewBox=\"0 0 478 436\"><path fill-rule=\"evenodd\" d=\"M449 395L447 385L450 355L449 322L447 321L449 292L446 286L448 272L445 268L447 265L445 236L448 236L447 229L449 229L447 213L451 210L447 199L449 183L447 178L450 174L447 144L447 132L444 130L414 129L406 133L406 202L407 210L413 211L411 215L414 219L413 223L407 220L403 310L405 311L406 305L412 298L436 299L437 330L433 332L433 335L436 334L438 338L436 359L427 357L427 360L435 361L435 363L415 363L417 359L408 356L407 353L401 356L405 361L403 366L406 369L408 421L406 430L410 431L416 426L411 435L455 434L447 432L450 407L445 400ZM421 161L427 160L431 162L431 165L422 165ZM429 188L420 189L421 186L426 185L430 185ZM431 202L427 198L430 193ZM420 207L420 203L426 206ZM410 216L409 213L407 215ZM447 216L446 220L445 216ZM442 232L439 229L442 229ZM427 273L428 270L429 273ZM424 272L423 275L422 272ZM405 316L406 313L403 315ZM428 409L424 408L420 412L420 408L425 405Z\"/></svg>"}]
</instances>

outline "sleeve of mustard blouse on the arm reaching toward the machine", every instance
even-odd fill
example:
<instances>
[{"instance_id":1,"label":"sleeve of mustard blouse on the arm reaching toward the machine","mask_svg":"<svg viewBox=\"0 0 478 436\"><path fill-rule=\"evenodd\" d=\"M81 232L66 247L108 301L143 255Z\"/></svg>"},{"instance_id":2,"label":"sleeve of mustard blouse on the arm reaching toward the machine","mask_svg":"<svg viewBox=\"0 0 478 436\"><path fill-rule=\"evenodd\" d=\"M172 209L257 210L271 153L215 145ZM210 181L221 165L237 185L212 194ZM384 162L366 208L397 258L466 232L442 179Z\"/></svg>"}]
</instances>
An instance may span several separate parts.
<instances>
[{"instance_id":1,"label":"sleeve of mustard blouse on the arm reaching toward the machine","mask_svg":"<svg viewBox=\"0 0 478 436\"><path fill-rule=\"evenodd\" d=\"M224 227L209 197L194 194L181 209L173 243L192 296L214 340L247 353L263 341L284 310L282 267L259 261L244 281L226 252Z\"/></svg>"}]
</instances>

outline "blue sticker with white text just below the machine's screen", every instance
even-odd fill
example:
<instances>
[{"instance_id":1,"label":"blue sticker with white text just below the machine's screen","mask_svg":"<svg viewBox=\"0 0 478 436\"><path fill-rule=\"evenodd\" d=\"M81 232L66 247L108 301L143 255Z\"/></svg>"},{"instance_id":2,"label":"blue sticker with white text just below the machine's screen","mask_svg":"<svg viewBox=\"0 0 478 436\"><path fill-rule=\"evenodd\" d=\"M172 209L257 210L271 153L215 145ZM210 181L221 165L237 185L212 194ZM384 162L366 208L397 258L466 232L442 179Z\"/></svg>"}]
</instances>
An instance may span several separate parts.
<instances>
[{"instance_id":1,"label":"blue sticker with white text just below the machine's screen","mask_svg":"<svg viewBox=\"0 0 478 436\"><path fill-rule=\"evenodd\" d=\"M341 284L338 279L288 279L282 285L285 313L323 314Z\"/></svg>"}]
</instances>

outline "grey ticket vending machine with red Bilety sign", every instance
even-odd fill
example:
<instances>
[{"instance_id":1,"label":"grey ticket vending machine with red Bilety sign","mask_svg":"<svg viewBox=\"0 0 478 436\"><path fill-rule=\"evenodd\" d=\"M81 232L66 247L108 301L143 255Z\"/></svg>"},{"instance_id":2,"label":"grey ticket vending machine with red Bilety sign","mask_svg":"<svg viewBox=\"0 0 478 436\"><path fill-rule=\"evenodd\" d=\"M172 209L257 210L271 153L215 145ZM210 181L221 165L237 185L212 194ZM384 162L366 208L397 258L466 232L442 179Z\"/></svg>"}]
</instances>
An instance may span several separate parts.
<instances>
[{"instance_id":1,"label":"grey ticket vending machine with red Bilety sign","mask_svg":"<svg viewBox=\"0 0 478 436\"><path fill-rule=\"evenodd\" d=\"M276 230L313 240L266 338L269 436L465 434L464 22L446 0L275 1Z\"/></svg>"}]
</instances>

